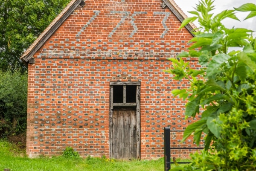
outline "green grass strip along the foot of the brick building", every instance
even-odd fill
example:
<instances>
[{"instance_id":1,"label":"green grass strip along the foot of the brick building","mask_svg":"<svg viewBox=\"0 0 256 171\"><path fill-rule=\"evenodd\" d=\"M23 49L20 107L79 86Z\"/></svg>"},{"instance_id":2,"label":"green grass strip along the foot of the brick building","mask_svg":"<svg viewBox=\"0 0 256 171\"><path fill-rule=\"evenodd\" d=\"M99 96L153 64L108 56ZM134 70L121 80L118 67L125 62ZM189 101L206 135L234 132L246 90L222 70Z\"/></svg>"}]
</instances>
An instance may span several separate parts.
<instances>
[{"instance_id":1,"label":"green grass strip along the foot of the brick building","mask_svg":"<svg viewBox=\"0 0 256 171\"><path fill-rule=\"evenodd\" d=\"M0 171L163 171L163 158L158 160L117 161L105 157L68 159L65 157L41 157L29 159L22 157L15 145L0 141ZM21 155L20 155L21 154Z\"/></svg>"}]
</instances>

